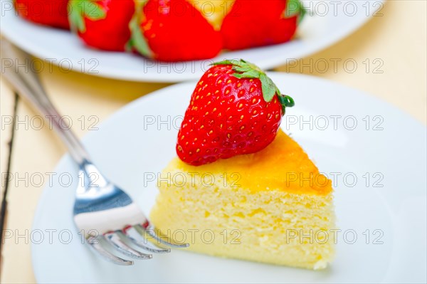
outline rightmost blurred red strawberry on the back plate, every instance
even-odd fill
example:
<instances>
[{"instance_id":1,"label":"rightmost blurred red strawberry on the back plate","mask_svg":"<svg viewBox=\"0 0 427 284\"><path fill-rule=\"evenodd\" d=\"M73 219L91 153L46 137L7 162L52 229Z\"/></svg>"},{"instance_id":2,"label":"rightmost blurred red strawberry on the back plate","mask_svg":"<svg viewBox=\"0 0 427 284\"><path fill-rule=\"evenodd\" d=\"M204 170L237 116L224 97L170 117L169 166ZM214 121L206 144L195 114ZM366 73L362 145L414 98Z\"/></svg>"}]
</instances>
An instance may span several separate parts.
<instances>
[{"instance_id":1,"label":"rightmost blurred red strawberry on the back plate","mask_svg":"<svg viewBox=\"0 0 427 284\"><path fill-rule=\"evenodd\" d=\"M304 14L298 0L266 0L262 3L259 0L236 0L221 26L224 48L236 50L289 41Z\"/></svg>"}]
</instances>

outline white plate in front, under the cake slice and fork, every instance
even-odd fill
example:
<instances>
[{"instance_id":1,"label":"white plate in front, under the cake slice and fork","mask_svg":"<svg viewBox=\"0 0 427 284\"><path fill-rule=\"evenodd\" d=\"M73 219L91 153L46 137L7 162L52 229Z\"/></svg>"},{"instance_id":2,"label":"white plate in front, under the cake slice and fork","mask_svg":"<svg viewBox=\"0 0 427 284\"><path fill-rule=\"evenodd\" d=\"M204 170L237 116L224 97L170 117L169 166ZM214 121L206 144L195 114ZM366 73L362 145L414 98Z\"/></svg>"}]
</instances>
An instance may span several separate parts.
<instances>
[{"instance_id":1,"label":"white plate in front, under the cake slice and fork","mask_svg":"<svg viewBox=\"0 0 427 284\"><path fill-rule=\"evenodd\" d=\"M132 267L107 263L80 243L73 226L77 180L70 183L68 176L75 177L77 170L65 156L55 169L58 178L43 191L33 223L33 230L45 236L32 245L38 282L426 282L426 127L401 110L342 85L305 75L270 76L283 93L295 98L296 105L288 109L282 124L285 132L292 133L322 172L339 176L333 180L342 232L330 268L302 270L176 250ZM84 139L100 169L147 214L157 188L147 179L144 184L144 173L158 173L174 157L178 127L195 85L172 85L140 98ZM335 116L336 127L329 119L322 130L325 117L334 115L341 116ZM310 117L312 130L300 124ZM295 120L299 122L294 124ZM48 229L56 230L51 243ZM38 234L34 238L38 241Z\"/></svg>"}]
</instances>

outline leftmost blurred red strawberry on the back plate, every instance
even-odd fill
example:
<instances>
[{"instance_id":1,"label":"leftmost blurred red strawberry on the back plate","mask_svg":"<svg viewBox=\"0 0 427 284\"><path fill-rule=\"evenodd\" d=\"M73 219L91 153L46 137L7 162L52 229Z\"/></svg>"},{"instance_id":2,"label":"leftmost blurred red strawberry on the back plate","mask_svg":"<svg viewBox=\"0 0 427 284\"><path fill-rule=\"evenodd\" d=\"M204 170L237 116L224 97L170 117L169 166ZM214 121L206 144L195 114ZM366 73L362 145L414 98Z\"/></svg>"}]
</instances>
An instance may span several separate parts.
<instances>
[{"instance_id":1,"label":"leftmost blurred red strawberry on the back plate","mask_svg":"<svg viewBox=\"0 0 427 284\"><path fill-rule=\"evenodd\" d=\"M23 19L56 28L70 28L68 0L15 0L15 10Z\"/></svg>"}]
</instances>

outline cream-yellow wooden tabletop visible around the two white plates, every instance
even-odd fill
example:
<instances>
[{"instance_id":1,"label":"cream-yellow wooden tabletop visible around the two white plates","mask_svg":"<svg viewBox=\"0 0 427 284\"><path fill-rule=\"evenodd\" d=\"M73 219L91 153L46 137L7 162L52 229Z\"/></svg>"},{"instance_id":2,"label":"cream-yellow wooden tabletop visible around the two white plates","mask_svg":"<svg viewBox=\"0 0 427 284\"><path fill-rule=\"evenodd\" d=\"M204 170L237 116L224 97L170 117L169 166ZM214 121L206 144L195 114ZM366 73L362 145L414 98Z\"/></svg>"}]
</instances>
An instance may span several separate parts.
<instances>
[{"instance_id":1,"label":"cream-yellow wooden tabletop visible around the two white plates","mask_svg":"<svg viewBox=\"0 0 427 284\"><path fill-rule=\"evenodd\" d=\"M390 0L377 16L344 40L303 58L297 63L281 66L277 70L290 73L305 73L326 78L352 88L364 90L373 96L390 102L426 124L427 105L427 58L426 58L426 1ZM350 73L342 65L337 69L316 68L316 62L350 60L358 65ZM312 68L307 67L312 65ZM304 67L306 66L306 67ZM320 65L319 65L320 66ZM367 70L369 66L369 70ZM41 80L54 104L71 121L78 122L90 115L99 122L128 102L142 95L163 88L166 84L132 83L108 80L80 73L61 73L56 67L46 68ZM312 70L310 70L312 69ZM4 174L9 160L9 141L14 115L16 96L4 80L1 80L1 189L4 191ZM31 127L36 123L31 119L36 112L17 100L14 140L11 147L11 167L13 175L8 186L8 214L4 234L8 234L2 244L1 283L33 283L31 265L31 233L33 214L43 190L38 179L53 171L65 147L58 137L43 127ZM80 118L80 120L79 120ZM99 123L98 122L98 123ZM34 126L34 125L33 125ZM37 126L37 125L36 125ZM78 136L83 136L88 127L73 127ZM45 180L45 182L46 182ZM3 194L1 194L2 196ZM14 236L10 237L11 233ZM17 238L17 235L21 237Z\"/></svg>"}]
</instances>

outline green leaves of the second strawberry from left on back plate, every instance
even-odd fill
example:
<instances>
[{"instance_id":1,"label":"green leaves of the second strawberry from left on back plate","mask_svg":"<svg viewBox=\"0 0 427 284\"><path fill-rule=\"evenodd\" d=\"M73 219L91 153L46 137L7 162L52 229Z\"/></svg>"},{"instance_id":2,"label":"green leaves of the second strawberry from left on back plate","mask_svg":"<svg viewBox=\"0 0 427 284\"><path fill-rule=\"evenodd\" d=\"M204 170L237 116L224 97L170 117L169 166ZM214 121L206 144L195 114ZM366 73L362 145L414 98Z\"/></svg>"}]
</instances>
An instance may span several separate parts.
<instances>
[{"instance_id":1,"label":"green leaves of the second strawberry from left on back plate","mask_svg":"<svg viewBox=\"0 0 427 284\"><path fill-rule=\"evenodd\" d=\"M85 33L85 19L93 21L105 19L107 12L96 3L96 0L70 0L68 15L71 29Z\"/></svg>"}]
</instances>

